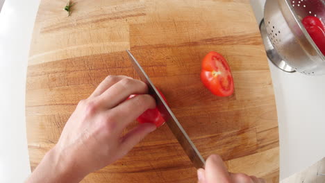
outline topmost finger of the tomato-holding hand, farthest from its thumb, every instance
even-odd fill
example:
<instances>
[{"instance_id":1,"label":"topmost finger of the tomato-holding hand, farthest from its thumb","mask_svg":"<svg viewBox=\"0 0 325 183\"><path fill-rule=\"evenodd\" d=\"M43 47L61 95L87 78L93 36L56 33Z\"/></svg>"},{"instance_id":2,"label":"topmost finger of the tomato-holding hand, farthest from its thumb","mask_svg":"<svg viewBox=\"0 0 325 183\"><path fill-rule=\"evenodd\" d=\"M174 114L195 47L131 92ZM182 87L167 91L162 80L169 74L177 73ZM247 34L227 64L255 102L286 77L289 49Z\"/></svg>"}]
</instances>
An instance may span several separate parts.
<instances>
[{"instance_id":1,"label":"topmost finger of the tomato-holding hand, farthest from its thumb","mask_svg":"<svg viewBox=\"0 0 325 183\"><path fill-rule=\"evenodd\" d=\"M98 85L98 87L92 92L90 97L92 96L99 96L103 94L103 92L106 91L109 87L113 86L115 83L119 82L120 80L124 78L130 78L128 76L107 76L101 83Z\"/></svg>"}]
</instances>

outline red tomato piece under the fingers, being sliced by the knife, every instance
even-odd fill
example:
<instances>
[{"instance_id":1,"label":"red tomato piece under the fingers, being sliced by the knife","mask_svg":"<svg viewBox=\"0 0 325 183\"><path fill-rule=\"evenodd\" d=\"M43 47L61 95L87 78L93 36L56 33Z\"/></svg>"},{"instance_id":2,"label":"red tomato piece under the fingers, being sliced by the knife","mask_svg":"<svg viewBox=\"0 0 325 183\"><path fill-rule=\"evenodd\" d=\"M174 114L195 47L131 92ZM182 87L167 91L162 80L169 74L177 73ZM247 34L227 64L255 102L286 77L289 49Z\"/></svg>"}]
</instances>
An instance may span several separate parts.
<instances>
[{"instance_id":1,"label":"red tomato piece under the fingers, being sliced by the knife","mask_svg":"<svg viewBox=\"0 0 325 183\"><path fill-rule=\"evenodd\" d=\"M159 89L157 89L159 94L161 96L163 96L164 101L167 103L165 96L163 95L162 92L160 92ZM128 99L133 98L137 95L131 95L128 97ZM161 125L163 125L165 123L165 119L163 119L163 116L160 114L158 108L154 108L154 109L149 109L146 110L144 113L142 113L138 118L137 121L139 123L153 123L156 125L156 127L160 127Z\"/></svg>"}]
</instances>

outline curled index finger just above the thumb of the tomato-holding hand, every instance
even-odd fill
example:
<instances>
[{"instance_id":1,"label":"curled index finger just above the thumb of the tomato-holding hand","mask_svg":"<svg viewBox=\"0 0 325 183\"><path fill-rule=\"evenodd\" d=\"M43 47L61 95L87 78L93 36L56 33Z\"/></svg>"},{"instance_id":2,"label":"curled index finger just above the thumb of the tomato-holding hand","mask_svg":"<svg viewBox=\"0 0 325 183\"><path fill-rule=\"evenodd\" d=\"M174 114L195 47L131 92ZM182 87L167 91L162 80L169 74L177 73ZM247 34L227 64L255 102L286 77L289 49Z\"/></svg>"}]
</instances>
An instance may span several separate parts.
<instances>
[{"instance_id":1,"label":"curled index finger just above the thumb of the tomato-holding hand","mask_svg":"<svg viewBox=\"0 0 325 183\"><path fill-rule=\"evenodd\" d=\"M129 123L135 121L143 112L156 107L156 101L148 94L135 96L110 110L115 121L119 121L117 132L122 132Z\"/></svg>"}]
</instances>

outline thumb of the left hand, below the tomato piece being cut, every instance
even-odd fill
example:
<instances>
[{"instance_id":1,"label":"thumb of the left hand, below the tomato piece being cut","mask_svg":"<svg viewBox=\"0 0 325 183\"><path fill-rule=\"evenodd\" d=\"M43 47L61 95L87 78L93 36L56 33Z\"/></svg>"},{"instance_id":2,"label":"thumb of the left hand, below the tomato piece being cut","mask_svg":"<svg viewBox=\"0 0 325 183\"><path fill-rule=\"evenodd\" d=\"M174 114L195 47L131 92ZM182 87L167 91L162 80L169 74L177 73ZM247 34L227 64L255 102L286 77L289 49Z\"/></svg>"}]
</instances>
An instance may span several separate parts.
<instances>
[{"instance_id":1,"label":"thumb of the left hand, below the tomato piece being cut","mask_svg":"<svg viewBox=\"0 0 325 183\"><path fill-rule=\"evenodd\" d=\"M121 157L126 155L135 145L137 145L147 134L156 130L156 125L153 123L142 123L133 128L124 137L122 137L121 144L119 146ZM119 157L119 158L121 158Z\"/></svg>"}]
</instances>

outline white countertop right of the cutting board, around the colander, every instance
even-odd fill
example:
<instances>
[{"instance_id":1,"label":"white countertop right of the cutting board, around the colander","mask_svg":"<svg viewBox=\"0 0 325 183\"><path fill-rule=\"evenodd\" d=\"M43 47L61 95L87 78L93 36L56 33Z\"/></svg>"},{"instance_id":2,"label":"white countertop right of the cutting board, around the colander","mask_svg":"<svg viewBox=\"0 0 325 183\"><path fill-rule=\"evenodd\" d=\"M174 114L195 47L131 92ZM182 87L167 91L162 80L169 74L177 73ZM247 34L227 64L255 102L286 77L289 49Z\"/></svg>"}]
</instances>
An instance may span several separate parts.
<instances>
[{"instance_id":1,"label":"white countertop right of the cutting board, around the colander","mask_svg":"<svg viewBox=\"0 0 325 183\"><path fill-rule=\"evenodd\" d=\"M265 0L251 0L260 22ZM325 76L285 73L269 62L280 135L280 179L325 156Z\"/></svg>"}]
</instances>

